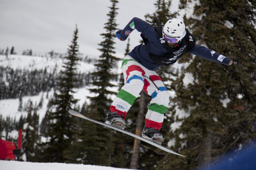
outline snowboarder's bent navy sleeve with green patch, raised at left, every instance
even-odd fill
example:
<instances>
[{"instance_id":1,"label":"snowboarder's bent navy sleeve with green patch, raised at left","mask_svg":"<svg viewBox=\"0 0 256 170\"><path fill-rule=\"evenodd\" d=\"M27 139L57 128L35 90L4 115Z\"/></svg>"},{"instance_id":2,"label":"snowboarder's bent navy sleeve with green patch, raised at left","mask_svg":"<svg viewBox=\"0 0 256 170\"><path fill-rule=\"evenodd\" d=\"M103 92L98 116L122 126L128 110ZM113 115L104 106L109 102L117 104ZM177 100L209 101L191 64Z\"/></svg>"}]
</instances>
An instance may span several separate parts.
<instances>
[{"instance_id":1,"label":"snowboarder's bent navy sleeve with green patch, raised at left","mask_svg":"<svg viewBox=\"0 0 256 170\"><path fill-rule=\"evenodd\" d=\"M145 36L147 36L147 30L148 29L154 29L154 27L150 26L148 22L145 22L144 20L141 20L137 17L134 17L121 31L120 37L123 40L126 40L130 33L136 29L137 31L143 33Z\"/></svg>"}]
</instances>

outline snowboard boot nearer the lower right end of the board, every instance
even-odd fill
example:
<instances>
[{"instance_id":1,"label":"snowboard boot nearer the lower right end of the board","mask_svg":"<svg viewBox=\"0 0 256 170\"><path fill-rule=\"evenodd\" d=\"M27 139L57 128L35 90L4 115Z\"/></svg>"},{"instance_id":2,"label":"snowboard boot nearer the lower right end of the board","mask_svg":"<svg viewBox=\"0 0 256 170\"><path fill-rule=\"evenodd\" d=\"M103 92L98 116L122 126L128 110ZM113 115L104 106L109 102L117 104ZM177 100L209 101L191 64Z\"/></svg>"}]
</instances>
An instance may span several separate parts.
<instances>
[{"instance_id":1,"label":"snowboard boot nearer the lower right end of the board","mask_svg":"<svg viewBox=\"0 0 256 170\"><path fill-rule=\"evenodd\" d=\"M141 136L144 137L145 139L148 139L149 141L152 141L157 144L162 144L164 141L163 135L159 133L159 130L156 130L155 127L153 128L147 128L144 127Z\"/></svg>"}]
</instances>

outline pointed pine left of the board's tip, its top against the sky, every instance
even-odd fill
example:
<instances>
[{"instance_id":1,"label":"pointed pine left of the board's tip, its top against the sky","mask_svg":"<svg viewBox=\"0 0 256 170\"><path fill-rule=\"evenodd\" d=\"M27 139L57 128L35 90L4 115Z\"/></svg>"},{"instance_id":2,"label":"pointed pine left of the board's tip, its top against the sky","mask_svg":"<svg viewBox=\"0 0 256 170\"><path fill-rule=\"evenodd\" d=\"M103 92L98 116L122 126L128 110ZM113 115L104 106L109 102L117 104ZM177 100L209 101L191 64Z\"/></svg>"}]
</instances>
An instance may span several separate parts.
<instances>
[{"instance_id":1,"label":"pointed pine left of the board's tip, its top against the sky","mask_svg":"<svg viewBox=\"0 0 256 170\"><path fill-rule=\"evenodd\" d=\"M42 153L43 161L47 162L64 162L63 151L70 146L76 126L74 118L68 114L68 110L72 109L77 103L73 97L74 84L78 81L77 63L79 61L79 45L77 44L78 29L74 31L71 45L67 50L65 62L61 71L59 85L54 92L54 98L51 100L51 108L47 114L47 132L44 137L47 142L43 144L44 153Z\"/></svg>"}]
</instances>

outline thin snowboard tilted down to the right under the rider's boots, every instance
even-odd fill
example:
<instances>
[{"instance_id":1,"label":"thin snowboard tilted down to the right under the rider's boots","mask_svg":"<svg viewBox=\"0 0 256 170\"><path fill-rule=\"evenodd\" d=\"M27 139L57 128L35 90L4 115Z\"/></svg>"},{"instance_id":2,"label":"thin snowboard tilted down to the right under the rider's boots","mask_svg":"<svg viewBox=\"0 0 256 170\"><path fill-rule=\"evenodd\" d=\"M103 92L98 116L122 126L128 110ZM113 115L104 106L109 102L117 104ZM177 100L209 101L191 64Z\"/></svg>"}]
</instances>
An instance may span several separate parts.
<instances>
[{"instance_id":1,"label":"thin snowboard tilted down to the right under the rider's boots","mask_svg":"<svg viewBox=\"0 0 256 170\"><path fill-rule=\"evenodd\" d=\"M181 154L179 154L179 153L177 153L177 152L175 152L175 151L173 151L173 150L170 150L169 148L166 148L166 147L164 147L164 146L162 146L162 145L160 145L160 144L157 144L157 143L154 143L154 142L152 142L152 141L149 141L148 139L145 139L145 138L141 137L140 135L133 134L133 133L131 133L131 132L128 132L128 131L126 131L126 130L122 130L122 129L120 129L120 128L113 127L113 126L111 126L111 125L107 125L106 123L103 123L103 122L101 122L101 121L92 120L92 119L90 119L90 118L88 118L88 117L84 116L83 114L81 114L81 113L79 113L79 112L76 112L76 111L70 110L70 111L68 111L68 112L69 112L71 115L73 115L73 116L77 116L77 117L82 118L82 119L84 119L84 120L92 121L92 122L97 123L97 124L99 124L99 125L102 125L102 126L104 126L104 127L112 128L112 129L117 130L117 131L119 131L119 132L122 132L122 133L124 133L124 134L130 135L130 136L135 137L135 138L137 138L137 139L140 139L141 141L144 141L145 143L148 143L148 144L151 144L151 145L153 145L153 146L156 146L157 148L159 148L159 149L161 149L161 150L164 150L164 151L167 151L168 153L172 153L172 154L175 154L175 155L179 155L180 157L186 157L186 156L181 155Z\"/></svg>"}]
</instances>

